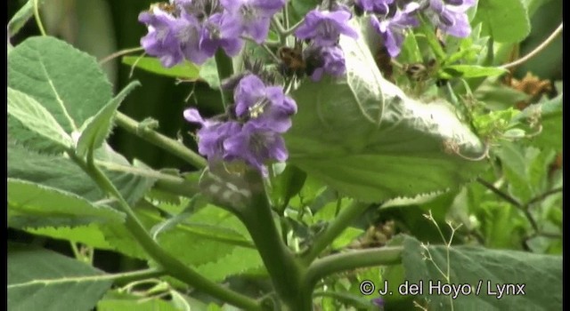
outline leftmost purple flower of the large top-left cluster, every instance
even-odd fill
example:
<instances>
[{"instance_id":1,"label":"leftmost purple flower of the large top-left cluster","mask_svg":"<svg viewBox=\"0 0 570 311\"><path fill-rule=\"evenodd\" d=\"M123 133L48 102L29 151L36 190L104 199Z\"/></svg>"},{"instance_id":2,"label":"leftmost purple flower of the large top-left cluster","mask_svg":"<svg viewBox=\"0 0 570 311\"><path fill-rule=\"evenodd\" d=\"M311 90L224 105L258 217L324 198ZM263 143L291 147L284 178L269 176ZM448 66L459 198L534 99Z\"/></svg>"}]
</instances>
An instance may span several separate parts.
<instances>
[{"instance_id":1,"label":"leftmost purple flower of the large top-left cluster","mask_svg":"<svg viewBox=\"0 0 570 311\"><path fill-rule=\"evenodd\" d=\"M139 21L149 28L149 33L141 38L144 51L158 57L166 68L171 68L183 60L180 41L174 30L174 16L153 7L152 12L142 12Z\"/></svg>"}]
</instances>

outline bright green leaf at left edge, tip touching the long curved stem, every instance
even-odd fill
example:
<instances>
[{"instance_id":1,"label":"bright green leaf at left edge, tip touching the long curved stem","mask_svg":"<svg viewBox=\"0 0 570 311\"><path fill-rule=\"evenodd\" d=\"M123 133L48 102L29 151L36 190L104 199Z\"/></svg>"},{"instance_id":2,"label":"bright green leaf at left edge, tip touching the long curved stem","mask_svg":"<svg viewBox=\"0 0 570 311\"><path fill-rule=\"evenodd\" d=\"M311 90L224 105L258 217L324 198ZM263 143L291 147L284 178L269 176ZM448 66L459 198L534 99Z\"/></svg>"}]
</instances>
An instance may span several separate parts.
<instances>
[{"instance_id":1,"label":"bright green leaf at left edge, tip touching the long curved stem","mask_svg":"<svg viewBox=\"0 0 570 311\"><path fill-rule=\"evenodd\" d=\"M10 227L80 226L93 222L122 222L125 215L84 198L19 179L8 178Z\"/></svg>"}]
</instances>

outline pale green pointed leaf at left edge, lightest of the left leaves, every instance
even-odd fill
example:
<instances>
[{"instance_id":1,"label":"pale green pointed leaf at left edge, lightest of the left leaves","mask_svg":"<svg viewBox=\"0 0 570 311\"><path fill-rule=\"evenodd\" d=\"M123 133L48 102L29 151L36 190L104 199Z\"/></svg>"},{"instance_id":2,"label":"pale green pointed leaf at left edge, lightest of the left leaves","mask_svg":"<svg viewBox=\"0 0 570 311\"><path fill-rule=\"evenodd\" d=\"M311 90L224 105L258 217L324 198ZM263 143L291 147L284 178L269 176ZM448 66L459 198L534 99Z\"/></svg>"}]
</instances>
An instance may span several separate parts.
<instances>
[{"instance_id":1,"label":"pale green pointed leaf at left edge, lightest of the left leaves","mask_svg":"<svg viewBox=\"0 0 570 311\"><path fill-rule=\"evenodd\" d=\"M36 132L59 148L70 148L73 141L53 116L27 94L8 88L8 114L28 130Z\"/></svg>"}]
</instances>

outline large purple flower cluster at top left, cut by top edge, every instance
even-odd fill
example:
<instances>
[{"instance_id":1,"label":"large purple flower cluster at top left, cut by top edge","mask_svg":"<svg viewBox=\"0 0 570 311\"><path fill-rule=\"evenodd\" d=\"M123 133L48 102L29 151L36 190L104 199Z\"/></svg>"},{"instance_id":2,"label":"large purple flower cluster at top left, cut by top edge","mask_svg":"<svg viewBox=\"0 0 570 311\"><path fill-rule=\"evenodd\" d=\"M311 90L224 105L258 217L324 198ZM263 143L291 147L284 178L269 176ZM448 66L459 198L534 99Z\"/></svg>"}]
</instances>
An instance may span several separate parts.
<instances>
[{"instance_id":1,"label":"large purple flower cluster at top left, cut by top edge","mask_svg":"<svg viewBox=\"0 0 570 311\"><path fill-rule=\"evenodd\" d=\"M149 32L141 39L148 54L170 68L184 59L202 64L218 48L229 56L237 55L241 36L265 41L269 21L283 7L285 0L171 0L154 4L142 12L139 21Z\"/></svg>"}]
</instances>

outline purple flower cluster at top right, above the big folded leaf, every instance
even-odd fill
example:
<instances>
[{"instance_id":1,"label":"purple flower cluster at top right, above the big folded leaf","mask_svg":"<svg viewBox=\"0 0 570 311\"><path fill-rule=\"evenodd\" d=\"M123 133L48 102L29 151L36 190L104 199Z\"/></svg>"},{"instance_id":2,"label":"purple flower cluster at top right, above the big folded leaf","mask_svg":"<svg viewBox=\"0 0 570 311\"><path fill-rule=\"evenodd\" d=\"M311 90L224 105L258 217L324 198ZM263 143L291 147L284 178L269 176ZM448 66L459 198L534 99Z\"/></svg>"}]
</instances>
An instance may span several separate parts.
<instances>
[{"instance_id":1,"label":"purple flower cluster at top right, above the big folded leaf","mask_svg":"<svg viewBox=\"0 0 570 311\"><path fill-rule=\"evenodd\" d=\"M400 53L405 31L419 26L415 16L419 12L451 36L469 36L471 27L466 12L475 4L476 0L355 1L359 9L371 13L372 27L384 38L387 52L392 57Z\"/></svg>"}]
</instances>

